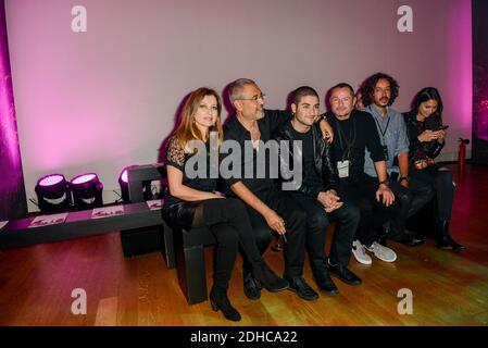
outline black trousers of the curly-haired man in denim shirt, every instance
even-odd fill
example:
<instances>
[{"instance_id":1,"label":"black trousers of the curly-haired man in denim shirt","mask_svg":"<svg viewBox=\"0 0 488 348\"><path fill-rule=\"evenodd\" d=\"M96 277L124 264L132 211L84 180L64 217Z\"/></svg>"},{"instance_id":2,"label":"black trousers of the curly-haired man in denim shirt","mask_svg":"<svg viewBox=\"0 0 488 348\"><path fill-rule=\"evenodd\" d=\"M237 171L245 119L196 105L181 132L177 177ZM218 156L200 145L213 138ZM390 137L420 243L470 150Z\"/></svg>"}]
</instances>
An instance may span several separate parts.
<instances>
[{"instance_id":1,"label":"black trousers of the curly-haired man in denim shirt","mask_svg":"<svg viewBox=\"0 0 488 348\"><path fill-rule=\"evenodd\" d=\"M434 197L433 187L416 177L411 177L409 188L398 182L390 182L395 198L401 202L401 212L391 220L390 237L400 239L405 229L406 220L413 216L422 207Z\"/></svg>"}]
</instances>

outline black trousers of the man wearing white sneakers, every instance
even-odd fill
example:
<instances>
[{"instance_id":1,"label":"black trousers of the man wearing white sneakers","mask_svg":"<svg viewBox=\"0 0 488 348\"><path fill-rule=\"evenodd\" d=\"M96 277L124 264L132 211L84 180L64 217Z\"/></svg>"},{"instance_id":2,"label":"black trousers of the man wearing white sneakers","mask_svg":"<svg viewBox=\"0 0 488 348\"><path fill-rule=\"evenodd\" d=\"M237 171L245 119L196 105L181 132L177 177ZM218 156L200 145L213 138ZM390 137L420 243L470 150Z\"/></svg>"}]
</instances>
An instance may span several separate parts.
<instances>
[{"instance_id":1,"label":"black trousers of the man wearing white sneakers","mask_svg":"<svg viewBox=\"0 0 488 348\"><path fill-rule=\"evenodd\" d=\"M366 247L377 240L377 231L384 223L401 215L401 204L397 200L389 207L376 200L377 189L378 179L366 174L340 179L339 196L360 210L355 238Z\"/></svg>"}]
</instances>

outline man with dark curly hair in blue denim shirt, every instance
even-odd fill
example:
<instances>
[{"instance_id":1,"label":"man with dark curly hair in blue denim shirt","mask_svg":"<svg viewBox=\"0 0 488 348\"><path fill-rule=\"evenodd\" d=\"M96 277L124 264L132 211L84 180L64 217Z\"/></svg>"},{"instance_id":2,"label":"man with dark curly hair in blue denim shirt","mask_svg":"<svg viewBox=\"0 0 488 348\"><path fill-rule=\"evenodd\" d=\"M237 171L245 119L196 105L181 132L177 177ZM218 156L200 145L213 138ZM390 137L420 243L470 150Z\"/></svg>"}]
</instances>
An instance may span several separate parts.
<instances>
[{"instance_id":1,"label":"man with dark curly hair in blue denim shirt","mask_svg":"<svg viewBox=\"0 0 488 348\"><path fill-rule=\"evenodd\" d=\"M399 85L391 76L376 73L364 82L361 91L364 111L373 115L379 134L389 175L388 184L401 204L400 213L392 219L389 228L386 228L381 241L385 243L385 237L389 237L408 246L421 245L424 243L422 237L405 233L405 223L433 198L434 191L428 185L409 177L406 126L402 114L390 108L398 97ZM367 152L364 172L376 176L374 163Z\"/></svg>"}]
</instances>

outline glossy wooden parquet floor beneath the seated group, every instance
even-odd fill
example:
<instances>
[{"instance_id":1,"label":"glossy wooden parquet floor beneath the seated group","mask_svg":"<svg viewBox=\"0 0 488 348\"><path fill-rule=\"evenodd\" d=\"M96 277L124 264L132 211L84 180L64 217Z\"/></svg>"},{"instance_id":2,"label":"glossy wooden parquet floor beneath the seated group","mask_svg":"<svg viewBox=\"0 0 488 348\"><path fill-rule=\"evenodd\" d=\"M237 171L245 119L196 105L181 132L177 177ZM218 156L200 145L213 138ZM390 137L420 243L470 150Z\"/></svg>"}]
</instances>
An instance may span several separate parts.
<instances>
[{"instance_id":1,"label":"glossy wooden parquet floor beneath the seated group","mask_svg":"<svg viewBox=\"0 0 488 348\"><path fill-rule=\"evenodd\" d=\"M363 265L351 258L350 269L363 284L337 279L336 297L306 302L291 291L263 290L261 300L250 301L238 259L229 295L242 321L232 323L209 301L187 304L176 271L166 269L160 253L124 259L114 232L0 252L0 325L487 325L488 169L468 165L462 174L455 175L451 233L465 252L438 250L433 240L415 248L390 243L398 260L374 258ZM212 251L205 251L209 288ZM281 258L266 252L279 272ZM304 275L315 287L308 261ZM86 314L72 313L76 288L86 291ZM397 311L402 288L413 294L412 314Z\"/></svg>"}]
</instances>

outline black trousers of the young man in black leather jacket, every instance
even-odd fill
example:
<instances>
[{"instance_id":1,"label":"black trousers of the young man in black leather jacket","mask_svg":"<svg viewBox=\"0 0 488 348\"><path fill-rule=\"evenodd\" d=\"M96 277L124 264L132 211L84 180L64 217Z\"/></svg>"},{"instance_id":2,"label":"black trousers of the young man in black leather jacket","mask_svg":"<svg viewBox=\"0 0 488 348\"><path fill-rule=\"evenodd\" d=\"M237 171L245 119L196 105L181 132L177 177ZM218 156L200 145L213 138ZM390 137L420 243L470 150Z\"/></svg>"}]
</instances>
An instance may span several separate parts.
<instances>
[{"instance_id":1,"label":"black trousers of the young man in black leather jacket","mask_svg":"<svg viewBox=\"0 0 488 348\"><path fill-rule=\"evenodd\" d=\"M337 222L330 247L330 263L347 265L352 252L352 241L360 221L359 209L341 197L342 207L326 213L316 199L301 192L291 196L306 212L306 250L313 274L320 277L327 272L325 239L329 221Z\"/></svg>"}]
</instances>

